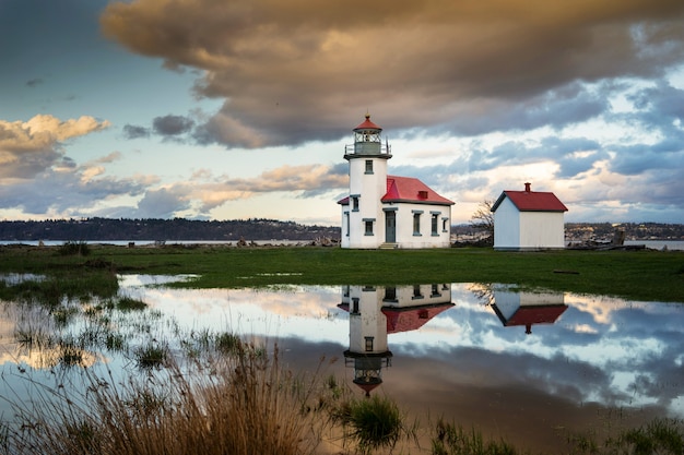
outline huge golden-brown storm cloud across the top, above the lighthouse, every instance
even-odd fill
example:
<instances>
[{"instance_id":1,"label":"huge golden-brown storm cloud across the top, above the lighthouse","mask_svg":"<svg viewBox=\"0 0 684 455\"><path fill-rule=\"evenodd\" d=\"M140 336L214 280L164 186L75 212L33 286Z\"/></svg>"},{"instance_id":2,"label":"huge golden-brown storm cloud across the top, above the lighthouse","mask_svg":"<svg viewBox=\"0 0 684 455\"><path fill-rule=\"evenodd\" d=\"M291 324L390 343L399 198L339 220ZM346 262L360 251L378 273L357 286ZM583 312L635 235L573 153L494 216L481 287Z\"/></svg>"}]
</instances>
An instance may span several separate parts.
<instances>
[{"instance_id":1,"label":"huge golden-brown storm cloud across the top, above the lighthouse","mask_svg":"<svg viewBox=\"0 0 684 455\"><path fill-rule=\"evenodd\" d=\"M226 100L205 143L259 147L338 139L366 108L386 128L461 133L592 117L604 100L577 103L578 81L661 75L684 58L683 13L680 0L143 0L110 3L102 25L205 71L197 92Z\"/></svg>"}]
</instances>

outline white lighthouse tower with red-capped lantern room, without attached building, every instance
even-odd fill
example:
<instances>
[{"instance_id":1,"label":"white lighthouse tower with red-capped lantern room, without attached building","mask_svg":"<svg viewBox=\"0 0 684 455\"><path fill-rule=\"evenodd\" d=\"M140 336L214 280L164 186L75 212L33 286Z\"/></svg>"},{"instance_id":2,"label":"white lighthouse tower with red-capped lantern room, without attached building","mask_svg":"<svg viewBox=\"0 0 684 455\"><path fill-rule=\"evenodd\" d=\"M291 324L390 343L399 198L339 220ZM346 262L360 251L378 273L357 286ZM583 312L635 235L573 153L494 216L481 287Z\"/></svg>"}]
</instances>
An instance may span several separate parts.
<instances>
[{"instance_id":1,"label":"white lighthouse tower with red-capped lantern room, without attached building","mask_svg":"<svg viewBox=\"0 0 684 455\"><path fill-rule=\"evenodd\" d=\"M345 146L350 164L350 195L342 220L342 248L377 248L385 239L381 199L387 192L387 160L392 157L389 144L382 144L382 129L366 120L354 128L354 144Z\"/></svg>"}]
</instances>

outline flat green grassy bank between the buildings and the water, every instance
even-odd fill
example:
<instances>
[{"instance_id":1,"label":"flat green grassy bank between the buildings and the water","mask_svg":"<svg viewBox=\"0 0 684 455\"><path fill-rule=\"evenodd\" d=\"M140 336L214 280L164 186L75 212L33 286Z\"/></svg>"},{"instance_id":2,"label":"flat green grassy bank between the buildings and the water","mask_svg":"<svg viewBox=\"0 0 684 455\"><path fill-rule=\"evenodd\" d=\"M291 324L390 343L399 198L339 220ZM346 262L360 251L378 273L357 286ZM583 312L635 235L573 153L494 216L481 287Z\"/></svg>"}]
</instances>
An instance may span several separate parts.
<instances>
[{"instance_id":1,"label":"flat green grassy bank between the buildings and the water","mask_svg":"<svg viewBox=\"0 0 684 455\"><path fill-rule=\"evenodd\" d=\"M178 286L271 284L401 285L507 283L635 300L684 301L684 252L492 249L361 251L339 248L92 247L87 256L55 248L4 247L0 273L62 277L83 272L198 274Z\"/></svg>"}]
</instances>

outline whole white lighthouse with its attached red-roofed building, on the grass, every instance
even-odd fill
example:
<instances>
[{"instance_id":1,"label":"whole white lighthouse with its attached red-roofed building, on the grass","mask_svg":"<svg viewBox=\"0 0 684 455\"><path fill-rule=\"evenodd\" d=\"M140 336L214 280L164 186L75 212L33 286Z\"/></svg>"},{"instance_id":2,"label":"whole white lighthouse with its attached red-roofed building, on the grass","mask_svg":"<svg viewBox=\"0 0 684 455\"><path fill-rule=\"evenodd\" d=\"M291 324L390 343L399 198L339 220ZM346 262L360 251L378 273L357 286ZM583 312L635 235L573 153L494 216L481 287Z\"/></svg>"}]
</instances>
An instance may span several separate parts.
<instances>
[{"instance_id":1,"label":"whole white lighthouse with its attached red-roofed building, on the grass","mask_svg":"<svg viewBox=\"0 0 684 455\"><path fill-rule=\"evenodd\" d=\"M350 192L342 207L342 248L448 248L451 205L421 180L387 175L392 157L382 129L366 120L345 147Z\"/></svg>"}]
</instances>

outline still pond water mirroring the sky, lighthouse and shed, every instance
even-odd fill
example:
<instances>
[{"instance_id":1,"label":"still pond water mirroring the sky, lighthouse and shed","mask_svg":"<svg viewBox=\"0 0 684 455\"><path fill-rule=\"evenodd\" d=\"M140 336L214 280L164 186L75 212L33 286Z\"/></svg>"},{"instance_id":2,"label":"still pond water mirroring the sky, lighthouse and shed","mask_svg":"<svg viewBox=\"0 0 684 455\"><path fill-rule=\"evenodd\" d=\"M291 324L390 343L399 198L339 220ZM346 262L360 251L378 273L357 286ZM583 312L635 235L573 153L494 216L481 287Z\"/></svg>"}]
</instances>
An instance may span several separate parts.
<instances>
[{"instance_id":1,"label":"still pond water mirroring the sky, lighthouse and shed","mask_svg":"<svg viewBox=\"0 0 684 455\"><path fill-rule=\"evenodd\" d=\"M338 359L329 373L359 396L390 396L425 427L444 416L553 452L569 433L614 434L653 417L684 418L681 303L502 284L176 289L166 286L172 279L122 275L120 294L148 308L118 325L139 324L145 336L172 345L178 333L208 330L267 339L297 370ZM24 374L17 371L55 381L59 359L17 343L21 327L43 316L12 308L5 302L0 321L0 395L16 399L22 392L13 381ZM83 366L105 363L126 369L130 359L95 349L83 358Z\"/></svg>"}]
</instances>

